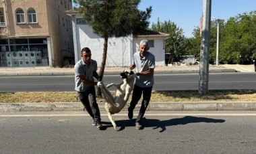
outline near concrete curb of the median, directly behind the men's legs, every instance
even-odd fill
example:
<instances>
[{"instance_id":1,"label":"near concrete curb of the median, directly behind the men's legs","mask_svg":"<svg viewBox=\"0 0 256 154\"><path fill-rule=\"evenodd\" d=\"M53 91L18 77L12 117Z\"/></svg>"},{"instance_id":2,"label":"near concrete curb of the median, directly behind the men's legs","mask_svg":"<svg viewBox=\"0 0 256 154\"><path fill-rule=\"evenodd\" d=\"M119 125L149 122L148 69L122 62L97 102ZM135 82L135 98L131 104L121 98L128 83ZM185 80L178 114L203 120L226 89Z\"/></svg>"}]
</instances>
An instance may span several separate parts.
<instances>
[{"instance_id":1,"label":"near concrete curb of the median, directly behind the men's legs","mask_svg":"<svg viewBox=\"0 0 256 154\"><path fill-rule=\"evenodd\" d=\"M98 103L100 110L104 110L104 102ZM128 104L123 108L127 110ZM139 110L140 103L135 110ZM0 112L28 112L28 111L81 111L80 102L51 102L51 103L0 103ZM148 110L170 111L256 111L256 102L150 102Z\"/></svg>"}]
</instances>

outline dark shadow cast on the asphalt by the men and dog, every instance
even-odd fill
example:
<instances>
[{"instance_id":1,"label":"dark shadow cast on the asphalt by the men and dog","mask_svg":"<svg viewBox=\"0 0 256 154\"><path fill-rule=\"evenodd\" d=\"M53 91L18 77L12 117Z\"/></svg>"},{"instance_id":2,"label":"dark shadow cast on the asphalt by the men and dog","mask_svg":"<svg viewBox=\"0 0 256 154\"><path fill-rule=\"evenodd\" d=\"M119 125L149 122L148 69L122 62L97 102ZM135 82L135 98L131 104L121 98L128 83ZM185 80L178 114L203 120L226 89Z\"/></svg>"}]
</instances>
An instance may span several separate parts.
<instances>
[{"instance_id":1,"label":"dark shadow cast on the asphalt by the men and dog","mask_svg":"<svg viewBox=\"0 0 256 154\"><path fill-rule=\"evenodd\" d=\"M170 119L166 121L160 121L158 119L146 119L143 118L143 127L153 127L153 129L161 128L159 132L162 133L166 130L166 127L168 126L174 126L174 125L186 125L189 123L224 123L225 121L223 119L209 119L205 117L191 117L186 116L183 118L178 119ZM117 124L118 131L123 131L125 127L134 127L135 126L135 119L133 120L122 120L122 121L115 121ZM111 123L103 123L106 124L102 129L107 129L108 127L113 127Z\"/></svg>"}]
</instances>

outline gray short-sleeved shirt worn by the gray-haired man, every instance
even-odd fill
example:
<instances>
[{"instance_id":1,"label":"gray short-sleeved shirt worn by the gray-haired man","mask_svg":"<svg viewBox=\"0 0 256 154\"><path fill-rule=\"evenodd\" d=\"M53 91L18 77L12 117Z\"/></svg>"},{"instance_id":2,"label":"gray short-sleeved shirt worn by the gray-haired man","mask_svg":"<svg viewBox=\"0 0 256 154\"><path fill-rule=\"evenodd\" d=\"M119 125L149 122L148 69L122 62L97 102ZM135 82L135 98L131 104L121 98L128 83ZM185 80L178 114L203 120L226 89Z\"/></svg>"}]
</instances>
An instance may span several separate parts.
<instances>
[{"instance_id":1,"label":"gray short-sleeved shirt worn by the gray-haired man","mask_svg":"<svg viewBox=\"0 0 256 154\"><path fill-rule=\"evenodd\" d=\"M133 63L137 68L137 72L143 72L149 70L150 68L155 68L155 56L154 54L147 52L146 56L141 58L139 52L133 54ZM137 76L135 80L135 85L139 87L150 87L154 84L154 74L150 76Z\"/></svg>"}]
</instances>

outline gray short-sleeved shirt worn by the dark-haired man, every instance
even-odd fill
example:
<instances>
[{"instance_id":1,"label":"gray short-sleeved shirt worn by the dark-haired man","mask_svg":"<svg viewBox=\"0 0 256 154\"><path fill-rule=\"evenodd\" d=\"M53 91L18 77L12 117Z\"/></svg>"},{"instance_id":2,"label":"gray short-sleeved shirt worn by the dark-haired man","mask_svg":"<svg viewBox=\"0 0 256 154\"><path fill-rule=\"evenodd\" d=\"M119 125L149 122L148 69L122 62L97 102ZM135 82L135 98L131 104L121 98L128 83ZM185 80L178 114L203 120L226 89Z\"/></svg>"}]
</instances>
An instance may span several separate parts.
<instances>
[{"instance_id":1,"label":"gray short-sleeved shirt worn by the dark-haired man","mask_svg":"<svg viewBox=\"0 0 256 154\"><path fill-rule=\"evenodd\" d=\"M83 60L79 60L75 64L75 91L77 92L85 92L90 88L90 85L83 84L80 80L79 76L86 76L87 80L94 81L94 71L97 70L97 62L95 60L91 60L90 64L85 64Z\"/></svg>"}]
</instances>

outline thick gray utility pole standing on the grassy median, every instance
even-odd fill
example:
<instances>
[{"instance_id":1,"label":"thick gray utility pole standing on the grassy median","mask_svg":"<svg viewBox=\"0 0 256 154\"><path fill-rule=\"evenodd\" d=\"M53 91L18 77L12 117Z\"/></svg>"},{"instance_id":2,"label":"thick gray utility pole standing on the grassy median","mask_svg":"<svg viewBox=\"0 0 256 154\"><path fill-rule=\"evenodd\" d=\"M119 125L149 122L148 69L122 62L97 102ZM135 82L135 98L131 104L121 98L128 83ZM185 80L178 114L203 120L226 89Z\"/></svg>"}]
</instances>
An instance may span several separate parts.
<instances>
[{"instance_id":1,"label":"thick gray utility pole standing on the grassy median","mask_svg":"<svg viewBox=\"0 0 256 154\"><path fill-rule=\"evenodd\" d=\"M212 0L203 0L203 21L199 68L199 94L204 95L208 90L209 51L210 51L210 23Z\"/></svg>"}]
</instances>

